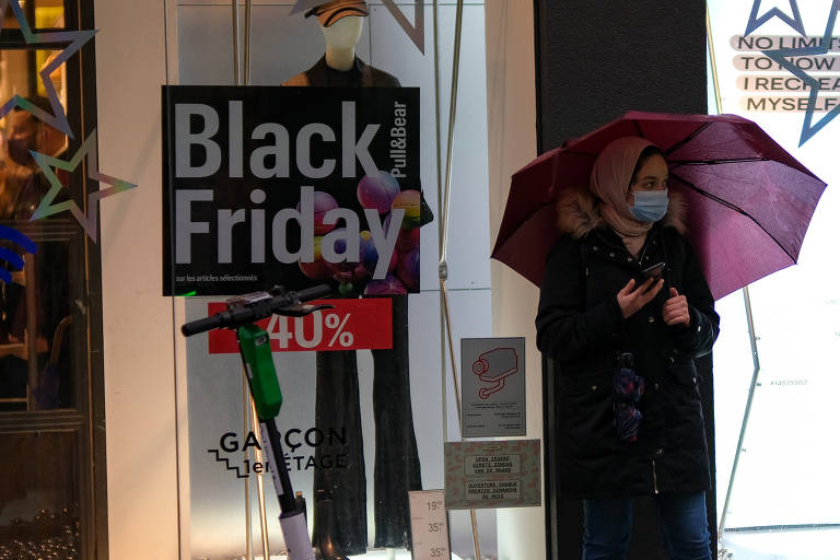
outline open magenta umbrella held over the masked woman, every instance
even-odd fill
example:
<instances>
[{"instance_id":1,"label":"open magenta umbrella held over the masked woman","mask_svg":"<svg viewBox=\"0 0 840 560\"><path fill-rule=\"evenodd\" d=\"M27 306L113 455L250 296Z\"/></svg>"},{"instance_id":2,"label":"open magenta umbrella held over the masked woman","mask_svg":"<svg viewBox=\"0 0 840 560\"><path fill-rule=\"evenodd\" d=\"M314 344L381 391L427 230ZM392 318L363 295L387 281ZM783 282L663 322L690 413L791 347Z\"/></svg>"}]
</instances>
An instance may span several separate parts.
<instances>
[{"instance_id":1,"label":"open magenta umbrella held over the masked woman","mask_svg":"<svg viewBox=\"0 0 840 560\"><path fill-rule=\"evenodd\" d=\"M516 172L491 256L539 285L557 238L558 196L587 185L597 154L623 136L665 153L668 188L688 202L688 238L715 300L796 262L825 183L751 120L641 112Z\"/></svg>"}]
</instances>

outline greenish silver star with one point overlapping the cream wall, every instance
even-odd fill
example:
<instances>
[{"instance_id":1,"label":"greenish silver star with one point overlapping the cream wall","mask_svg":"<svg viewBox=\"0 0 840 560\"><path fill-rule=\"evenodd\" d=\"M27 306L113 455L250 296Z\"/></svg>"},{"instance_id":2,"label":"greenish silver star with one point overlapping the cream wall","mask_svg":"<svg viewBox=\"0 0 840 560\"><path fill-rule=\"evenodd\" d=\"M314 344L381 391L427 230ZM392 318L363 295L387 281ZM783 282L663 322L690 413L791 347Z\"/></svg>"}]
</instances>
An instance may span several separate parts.
<instances>
[{"instance_id":1,"label":"greenish silver star with one point overlapping the cream wall","mask_svg":"<svg viewBox=\"0 0 840 560\"><path fill-rule=\"evenodd\" d=\"M51 187L46 196L40 200L40 205L38 205L38 208L35 209L30 220L38 220L40 218L46 218L48 215L69 210L94 243L96 243L98 233L97 213L100 208L100 200L137 187L137 185L133 183L128 183L127 180L118 179L100 173L96 160L95 130L91 132L91 136L85 139L81 148L79 148L79 151L73 154L73 158L69 162L65 160L57 160L35 151L31 153L35 160L35 163L38 164L38 167L40 167L40 171L44 172L47 180L49 180ZM65 171L73 171L79 166L85 155L88 155L88 176L98 183L107 183L108 185L112 185L109 188L104 190L95 190L88 195L88 214L85 214L72 200L66 200L56 205L52 203L59 191L63 188L63 185L56 176L52 167Z\"/></svg>"}]
</instances>

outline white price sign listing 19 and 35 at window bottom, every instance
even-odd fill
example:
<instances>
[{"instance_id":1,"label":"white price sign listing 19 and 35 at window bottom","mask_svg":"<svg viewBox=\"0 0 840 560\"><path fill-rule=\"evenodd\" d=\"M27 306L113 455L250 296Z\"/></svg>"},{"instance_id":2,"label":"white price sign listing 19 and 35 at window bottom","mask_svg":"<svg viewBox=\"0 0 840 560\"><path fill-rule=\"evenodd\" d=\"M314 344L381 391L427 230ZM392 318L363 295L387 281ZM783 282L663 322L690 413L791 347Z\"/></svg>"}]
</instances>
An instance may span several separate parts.
<instances>
[{"instance_id":1,"label":"white price sign listing 19 and 35 at window bottom","mask_svg":"<svg viewBox=\"0 0 840 560\"><path fill-rule=\"evenodd\" d=\"M448 560L450 525L443 490L408 492L413 560Z\"/></svg>"}]
</instances>

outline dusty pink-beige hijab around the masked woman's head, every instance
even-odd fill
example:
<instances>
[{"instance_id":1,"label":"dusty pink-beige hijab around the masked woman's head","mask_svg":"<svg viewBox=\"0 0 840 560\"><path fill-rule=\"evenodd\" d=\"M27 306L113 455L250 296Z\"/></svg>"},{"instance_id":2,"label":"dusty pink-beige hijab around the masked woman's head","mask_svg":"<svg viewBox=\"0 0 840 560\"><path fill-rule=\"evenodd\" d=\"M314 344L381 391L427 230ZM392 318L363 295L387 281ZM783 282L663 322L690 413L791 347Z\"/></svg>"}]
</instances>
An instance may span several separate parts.
<instances>
[{"instance_id":1,"label":"dusty pink-beige hijab around the masked woman's head","mask_svg":"<svg viewBox=\"0 0 840 560\"><path fill-rule=\"evenodd\" d=\"M654 144L637 136L611 141L598 154L590 176L590 190L599 200L604 221L621 237L627 250L634 257L642 249L653 224L633 218L627 208L627 191L639 155L649 145Z\"/></svg>"}]
</instances>

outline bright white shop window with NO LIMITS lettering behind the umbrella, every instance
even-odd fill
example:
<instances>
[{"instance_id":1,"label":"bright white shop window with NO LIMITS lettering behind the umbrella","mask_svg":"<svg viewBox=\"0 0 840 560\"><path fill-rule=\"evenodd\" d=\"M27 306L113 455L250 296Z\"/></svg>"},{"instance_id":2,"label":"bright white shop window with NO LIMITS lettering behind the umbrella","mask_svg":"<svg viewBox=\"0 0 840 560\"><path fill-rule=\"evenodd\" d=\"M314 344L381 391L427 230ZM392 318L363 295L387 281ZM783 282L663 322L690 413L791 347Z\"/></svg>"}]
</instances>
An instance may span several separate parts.
<instances>
[{"instance_id":1,"label":"bright white shop window with NO LIMITS lettering behind the umbrella","mask_svg":"<svg viewBox=\"0 0 840 560\"><path fill-rule=\"evenodd\" d=\"M840 235L832 188L840 179L840 28L837 3L829 4L709 2L710 113L756 121L829 185L798 264L749 287L757 363L744 294L719 302L718 518L721 548L733 559L835 558L840 541L840 454L830 443L840 388L839 270L831 256Z\"/></svg>"}]
</instances>

